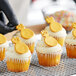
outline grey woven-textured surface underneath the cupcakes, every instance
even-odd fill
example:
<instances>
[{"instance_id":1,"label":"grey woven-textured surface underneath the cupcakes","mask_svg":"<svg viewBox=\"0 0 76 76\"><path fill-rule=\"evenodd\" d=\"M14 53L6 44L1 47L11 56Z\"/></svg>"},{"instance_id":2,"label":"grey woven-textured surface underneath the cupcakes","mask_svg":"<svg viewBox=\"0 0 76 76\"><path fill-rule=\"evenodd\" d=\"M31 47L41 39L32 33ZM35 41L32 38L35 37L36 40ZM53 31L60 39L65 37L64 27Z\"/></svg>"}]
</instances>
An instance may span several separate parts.
<instances>
[{"instance_id":1,"label":"grey woven-textured surface underneath the cupcakes","mask_svg":"<svg viewBox=\"0 0 76 76\"><path fill-rule=\"evenodd\" d=\"M36 48L35 48L36 49ZM43 67L38 63L36 51L34 52L27 72L10 72L6 67L6 59L0 62L0 76L71 76L76 74L76 59L69 59L65 46L58 66Z\"/></svg>"}]
</instances>

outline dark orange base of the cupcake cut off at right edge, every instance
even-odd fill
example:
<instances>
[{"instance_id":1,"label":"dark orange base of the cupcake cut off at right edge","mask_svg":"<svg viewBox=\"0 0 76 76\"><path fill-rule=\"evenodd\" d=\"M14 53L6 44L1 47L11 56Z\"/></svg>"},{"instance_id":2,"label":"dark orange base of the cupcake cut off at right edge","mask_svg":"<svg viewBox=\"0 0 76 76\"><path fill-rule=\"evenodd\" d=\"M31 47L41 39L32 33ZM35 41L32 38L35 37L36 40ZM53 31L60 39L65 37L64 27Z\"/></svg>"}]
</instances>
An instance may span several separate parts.
<instances>
[{"instance_id":1,"label":"dark orange base of the cupcake cut off at right edge","mask_svg":"<svg viewBox=\"0 0 76 76\"><path fill-rule=\"evenodd\" d=\"M76 45L69 45L66 43L66 52L69 58L76 58Z\"/></svg>"}]
</instances>

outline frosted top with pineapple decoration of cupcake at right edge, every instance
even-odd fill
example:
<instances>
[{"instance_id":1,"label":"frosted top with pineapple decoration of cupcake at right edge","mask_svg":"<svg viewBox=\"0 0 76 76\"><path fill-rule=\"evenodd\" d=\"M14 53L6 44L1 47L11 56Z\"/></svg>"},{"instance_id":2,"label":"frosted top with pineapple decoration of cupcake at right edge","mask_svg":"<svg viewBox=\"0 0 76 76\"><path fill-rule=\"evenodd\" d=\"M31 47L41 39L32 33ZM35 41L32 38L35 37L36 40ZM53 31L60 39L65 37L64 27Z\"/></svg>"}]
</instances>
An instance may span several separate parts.
<instances>
[{"instance_id":1,"label":"frosted top with pineapple decoration of cupcake at right edge","mask_svg":"<svg viewBox=\"0 0 76 76\"><path fill-rule=\"evenodd\" d=\"M76 23L72 24L73 30L66 36L65 43L76 45Z\"/></svg>"}]
</instances>

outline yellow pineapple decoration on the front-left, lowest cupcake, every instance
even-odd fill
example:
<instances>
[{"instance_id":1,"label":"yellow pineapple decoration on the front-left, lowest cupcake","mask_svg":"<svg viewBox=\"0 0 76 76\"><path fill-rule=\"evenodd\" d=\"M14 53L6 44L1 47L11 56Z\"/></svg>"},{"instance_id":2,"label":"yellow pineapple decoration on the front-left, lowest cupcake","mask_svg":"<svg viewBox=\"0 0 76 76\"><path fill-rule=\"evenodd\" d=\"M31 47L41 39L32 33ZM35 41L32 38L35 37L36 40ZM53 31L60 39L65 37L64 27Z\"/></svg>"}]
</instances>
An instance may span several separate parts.
<instances>
[{"instance_id":1,"label":"yellow pineapple decoration on the front-left, lowest cupcake","mask_svg":"<svg viewBox=\"0 0 76 76\"><path fill-rule=\"evenodd\" d=\"M19 37L13 37L11 41L15 44L15 51L18 54L24 54L28 52L28 46L25 43L21 42Z\"/></svg>"}]
</instances>

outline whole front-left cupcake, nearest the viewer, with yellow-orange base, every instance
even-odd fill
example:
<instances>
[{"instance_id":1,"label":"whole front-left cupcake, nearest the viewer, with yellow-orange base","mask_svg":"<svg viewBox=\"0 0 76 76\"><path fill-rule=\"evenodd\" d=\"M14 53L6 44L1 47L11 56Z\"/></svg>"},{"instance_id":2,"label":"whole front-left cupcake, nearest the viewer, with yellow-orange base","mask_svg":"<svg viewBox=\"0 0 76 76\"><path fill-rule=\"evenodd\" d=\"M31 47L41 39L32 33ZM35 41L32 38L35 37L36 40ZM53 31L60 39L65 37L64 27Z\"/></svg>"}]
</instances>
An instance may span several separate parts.
<instances>
[{"instance_id":1,"label":"whole front-left cupcake, nearest the viewer, with yellow-orange base","mask_svg":"<svg viewBox=\"0 0 76 76\"><path fill-rule=\"evenodd\" d=\"M12 72L28 71L31 53L28 46L18 37L13 37L6 52L7 69Z\"/></svg>"}]
</instances>

